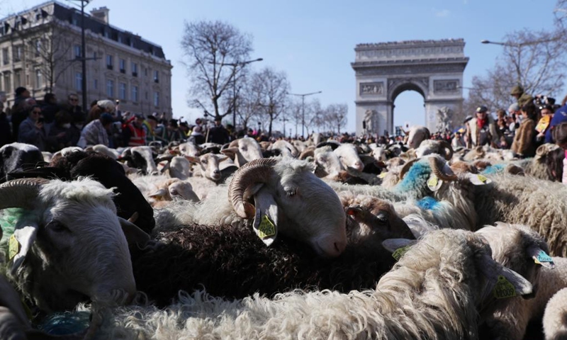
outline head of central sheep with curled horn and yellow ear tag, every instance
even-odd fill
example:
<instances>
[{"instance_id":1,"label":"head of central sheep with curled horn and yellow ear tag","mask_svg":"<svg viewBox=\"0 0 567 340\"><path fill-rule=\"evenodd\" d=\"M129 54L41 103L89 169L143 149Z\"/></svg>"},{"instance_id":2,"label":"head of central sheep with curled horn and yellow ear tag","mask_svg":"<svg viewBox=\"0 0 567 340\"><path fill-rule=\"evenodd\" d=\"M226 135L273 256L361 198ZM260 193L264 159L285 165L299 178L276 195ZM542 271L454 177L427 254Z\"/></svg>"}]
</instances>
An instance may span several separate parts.
<instances>
[{"instance_id":1,"label":"head of central sheep with curled horn and yellow ear tag","mask_svg":"<svg viewBox=\"0 0 567 340\"><path fill-rule=\"evenodd\" d=\"M237 215L254 220L264 243L281 232L318 254L338 256L347 244L346 216L335 191L311 171L313 166L295 159L254 160L233 176L229 200Z\"/></svg>"}]
</instances>

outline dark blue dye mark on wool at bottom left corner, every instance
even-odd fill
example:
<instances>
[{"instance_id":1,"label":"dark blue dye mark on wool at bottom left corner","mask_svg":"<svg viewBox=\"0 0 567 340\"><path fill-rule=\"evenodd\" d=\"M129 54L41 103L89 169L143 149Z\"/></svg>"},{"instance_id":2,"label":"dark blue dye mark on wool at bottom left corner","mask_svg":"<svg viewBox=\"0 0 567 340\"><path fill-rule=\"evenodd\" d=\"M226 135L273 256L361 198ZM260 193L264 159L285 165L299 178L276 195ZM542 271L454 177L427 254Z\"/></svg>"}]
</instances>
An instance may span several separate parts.
<instances>
[{"instance_id":1,"label":"dark blue dye mark on wool at bottom left corner","mask_svg":"<svg viewBox=\"0 0 567 340\"><path fill-rule=\"evenodd\" d=\"M50 335L77 334L89 328L90 312L62 312L52 314L39 325L40 331Z\"/></svg>"}]
</instances>

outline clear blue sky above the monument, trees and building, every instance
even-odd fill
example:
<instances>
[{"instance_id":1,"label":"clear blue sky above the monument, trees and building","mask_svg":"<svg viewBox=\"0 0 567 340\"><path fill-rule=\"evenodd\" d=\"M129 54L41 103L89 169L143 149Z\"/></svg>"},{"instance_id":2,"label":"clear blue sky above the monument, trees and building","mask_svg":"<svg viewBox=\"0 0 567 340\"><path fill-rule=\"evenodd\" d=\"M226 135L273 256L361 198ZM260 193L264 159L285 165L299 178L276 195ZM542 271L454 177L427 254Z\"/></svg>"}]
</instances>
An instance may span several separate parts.
<instances>
[{"instance_id":1,"label":"clear blue sky above the monument, trees and building","mask_svg":"<svg viewBox=\"0 0 567 340\"><path fill-rule=\"evenodd\" d=\"M0 0L0 16L41 4L36 0ZM79 1L64 1L72 5ZM263 62L250 67L273 67L286 72L293 93L322 91L323 106L347 103L354 131L354 47L359 43L398 40L464 38L470 57L464 86L484 74L500 55L499 41L521 28L539 30L553 26L555 0L214 0L169 1L93 0L87 10L110 8L111 24L162 45L172 61L174 116L194 120L200 111L186 106L189 84L181 65L179 42L184 21L222 20L253 36L252 57ZM558 70L565 72L565 70ZM554 94L563 98L562 90ZM425 122L423 98L406 91L395 100L395 125Z\"/></svg>"}]
</instances>

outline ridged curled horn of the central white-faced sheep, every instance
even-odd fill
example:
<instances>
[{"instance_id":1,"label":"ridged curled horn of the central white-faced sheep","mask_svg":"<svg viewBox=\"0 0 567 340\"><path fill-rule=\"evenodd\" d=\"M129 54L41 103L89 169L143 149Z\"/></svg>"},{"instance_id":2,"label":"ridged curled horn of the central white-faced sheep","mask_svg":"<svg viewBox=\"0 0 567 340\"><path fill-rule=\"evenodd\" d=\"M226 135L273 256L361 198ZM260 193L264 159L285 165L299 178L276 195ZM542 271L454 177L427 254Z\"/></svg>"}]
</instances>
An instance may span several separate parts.
<instances>
[{"instance_id":1,"label":"ridged curled horn of the central white-faced sheep","mask_svg":"<svg viewBox=\"0 0 567 340\"><path fill-rule=\"evenodd\" d=\"M236 171L228 186L228 199L232 209L242 218L254 217L254 205L244 201L244 193L254 183L266 182L273 173L277 160L274 158L254 159Z\"/></svg>"}]
</instances>

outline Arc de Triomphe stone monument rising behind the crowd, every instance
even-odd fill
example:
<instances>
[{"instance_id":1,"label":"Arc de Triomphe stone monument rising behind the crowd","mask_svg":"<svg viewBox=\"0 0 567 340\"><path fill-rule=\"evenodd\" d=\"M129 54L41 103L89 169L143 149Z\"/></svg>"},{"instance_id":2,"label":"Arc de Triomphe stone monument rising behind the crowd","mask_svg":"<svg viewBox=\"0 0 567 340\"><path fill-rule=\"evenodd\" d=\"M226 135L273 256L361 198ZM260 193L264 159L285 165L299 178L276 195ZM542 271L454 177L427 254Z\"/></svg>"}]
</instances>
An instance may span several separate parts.
<instances>
[{"instance_id":1,"label":"Arc de Triomphe stone monument rising behind the crowd","mask_svg":"<svg viewBox=\"0 0 567 340\"><path fill-rule=\"evenodd\" d=\"M351 64L357 78L357 135L382 135L384 130L393 133L393 103L406 90L417 91L425 99L425 122L430 131L440 126L452 128L450 123L444 125L451 115L460 124L461 86L468 62L464 46L463 39L357 45Z\"/></svg>"}]
</instances>

